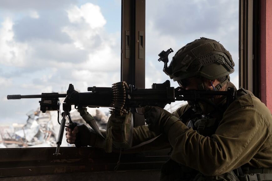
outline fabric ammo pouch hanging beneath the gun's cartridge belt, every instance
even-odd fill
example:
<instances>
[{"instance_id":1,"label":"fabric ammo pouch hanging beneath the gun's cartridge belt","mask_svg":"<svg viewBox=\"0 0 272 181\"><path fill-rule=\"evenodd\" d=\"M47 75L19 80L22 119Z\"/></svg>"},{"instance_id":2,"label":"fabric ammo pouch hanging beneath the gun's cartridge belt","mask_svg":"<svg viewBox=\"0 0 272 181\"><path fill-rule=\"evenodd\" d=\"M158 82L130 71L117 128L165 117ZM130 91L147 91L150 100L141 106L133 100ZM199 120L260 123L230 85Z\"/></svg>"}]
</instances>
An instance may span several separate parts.
<instances>
[{"instance_id":1,"label":"fabric ammo pouch hanging beneath the gun's cartridge belt","mask_svg":"<svg viewBox=\"0 0 272 181\"><path fill-rule=\"evenodd\" d=\"M133 116L131 112L123 116L112 114L107 123L106 152L115 148L130 148L132 145Z\"/></svg>"}]
</instances>

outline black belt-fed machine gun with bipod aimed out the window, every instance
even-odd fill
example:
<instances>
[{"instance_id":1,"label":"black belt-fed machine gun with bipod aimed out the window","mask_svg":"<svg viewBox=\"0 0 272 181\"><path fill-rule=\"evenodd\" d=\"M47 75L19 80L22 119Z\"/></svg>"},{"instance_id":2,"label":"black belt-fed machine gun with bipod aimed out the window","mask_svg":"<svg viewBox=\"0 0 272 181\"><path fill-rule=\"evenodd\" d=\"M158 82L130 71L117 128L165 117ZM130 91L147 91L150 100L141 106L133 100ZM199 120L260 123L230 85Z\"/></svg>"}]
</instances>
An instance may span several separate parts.
<instances>
[{"instance_id":1,"label":"black belt-fed machine gun with bipod aimed out the window","mask_svg":"<svg viewBox=\"0 0 272 181\"><path fill-rule=\"evenodd\" d=\"M199 101L207 100L212 96L222 95L226 96L227 106L232 103L236 98L236 91L234 88L228 88L227 91L205 91L205 90L184 90L180 87L170 87L170 81L164 83L153 83L150 89L138 89L133 85L128 85L126 82L114 83L112 87L88 87L89 92L79 93L76 91L72 84L66 94L59 93L42 93L39 95L8 95L8 99L21 99L21 98L41 98L40 110L45 113L46 111L59 111L60 101L59 98L65 98L63 103L62 120L58 133L57 149L55 155L60 154L59 148L62 143L62 137L65 127L71 129L77 125L74 123L70 116L71 106L75 108L80 107L109 107L110 113L122 116L133 108L144 106L159 106L164 108L166 104L175 101ZM59 113L58 113L59 116ZM66 117L69 120L69 126L65 126ZM100 135L97 124L92 123L90 126Z\"/></svg>"}]
</instances>

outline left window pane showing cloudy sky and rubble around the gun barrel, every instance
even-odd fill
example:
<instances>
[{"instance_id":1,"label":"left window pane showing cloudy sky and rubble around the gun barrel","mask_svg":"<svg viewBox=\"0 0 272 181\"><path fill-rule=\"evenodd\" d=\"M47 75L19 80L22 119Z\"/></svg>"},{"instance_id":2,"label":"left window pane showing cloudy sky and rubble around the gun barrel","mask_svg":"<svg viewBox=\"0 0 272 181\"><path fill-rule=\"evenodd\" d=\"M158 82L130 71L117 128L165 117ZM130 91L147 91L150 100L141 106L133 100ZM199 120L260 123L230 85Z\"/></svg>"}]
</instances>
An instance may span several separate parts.
<instances>
[{"instance_id":1,"label":"left window pane showing cloudy sky and rubble around the gun barrel","mask_svg":"<svg viewBox=\"0 0 272 181\"><path fill-rule=\"evenodd\" d=\"M56 112L40 114L40 99L8 94L66 93L69 83L87 92L120 81L120 19L119 0L0 2L1 148L55 146L58 136ZM108 108L100 110L89 111L104 128Z\"/></svg>"}]
</instances>

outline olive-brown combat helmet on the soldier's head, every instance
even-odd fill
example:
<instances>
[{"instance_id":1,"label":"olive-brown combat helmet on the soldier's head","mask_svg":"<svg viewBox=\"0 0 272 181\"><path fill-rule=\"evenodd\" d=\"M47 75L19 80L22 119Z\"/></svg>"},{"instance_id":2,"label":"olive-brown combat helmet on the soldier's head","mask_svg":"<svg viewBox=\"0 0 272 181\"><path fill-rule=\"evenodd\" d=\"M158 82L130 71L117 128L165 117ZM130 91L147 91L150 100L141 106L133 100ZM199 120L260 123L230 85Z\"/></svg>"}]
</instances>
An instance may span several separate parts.
<instances>
[{"instance_id":1,"label":"olive-brown combat helmet on the soldier's head","mask_svg":"<svg viewBox=\"0 0 272 181\"><path fill-rule=\"evenodd\" d=\"M202 37L180 48L164 72L174 81L194 76L215 80L233 73L234 62L222 44Z\"/></svg>"}]
</instances>

